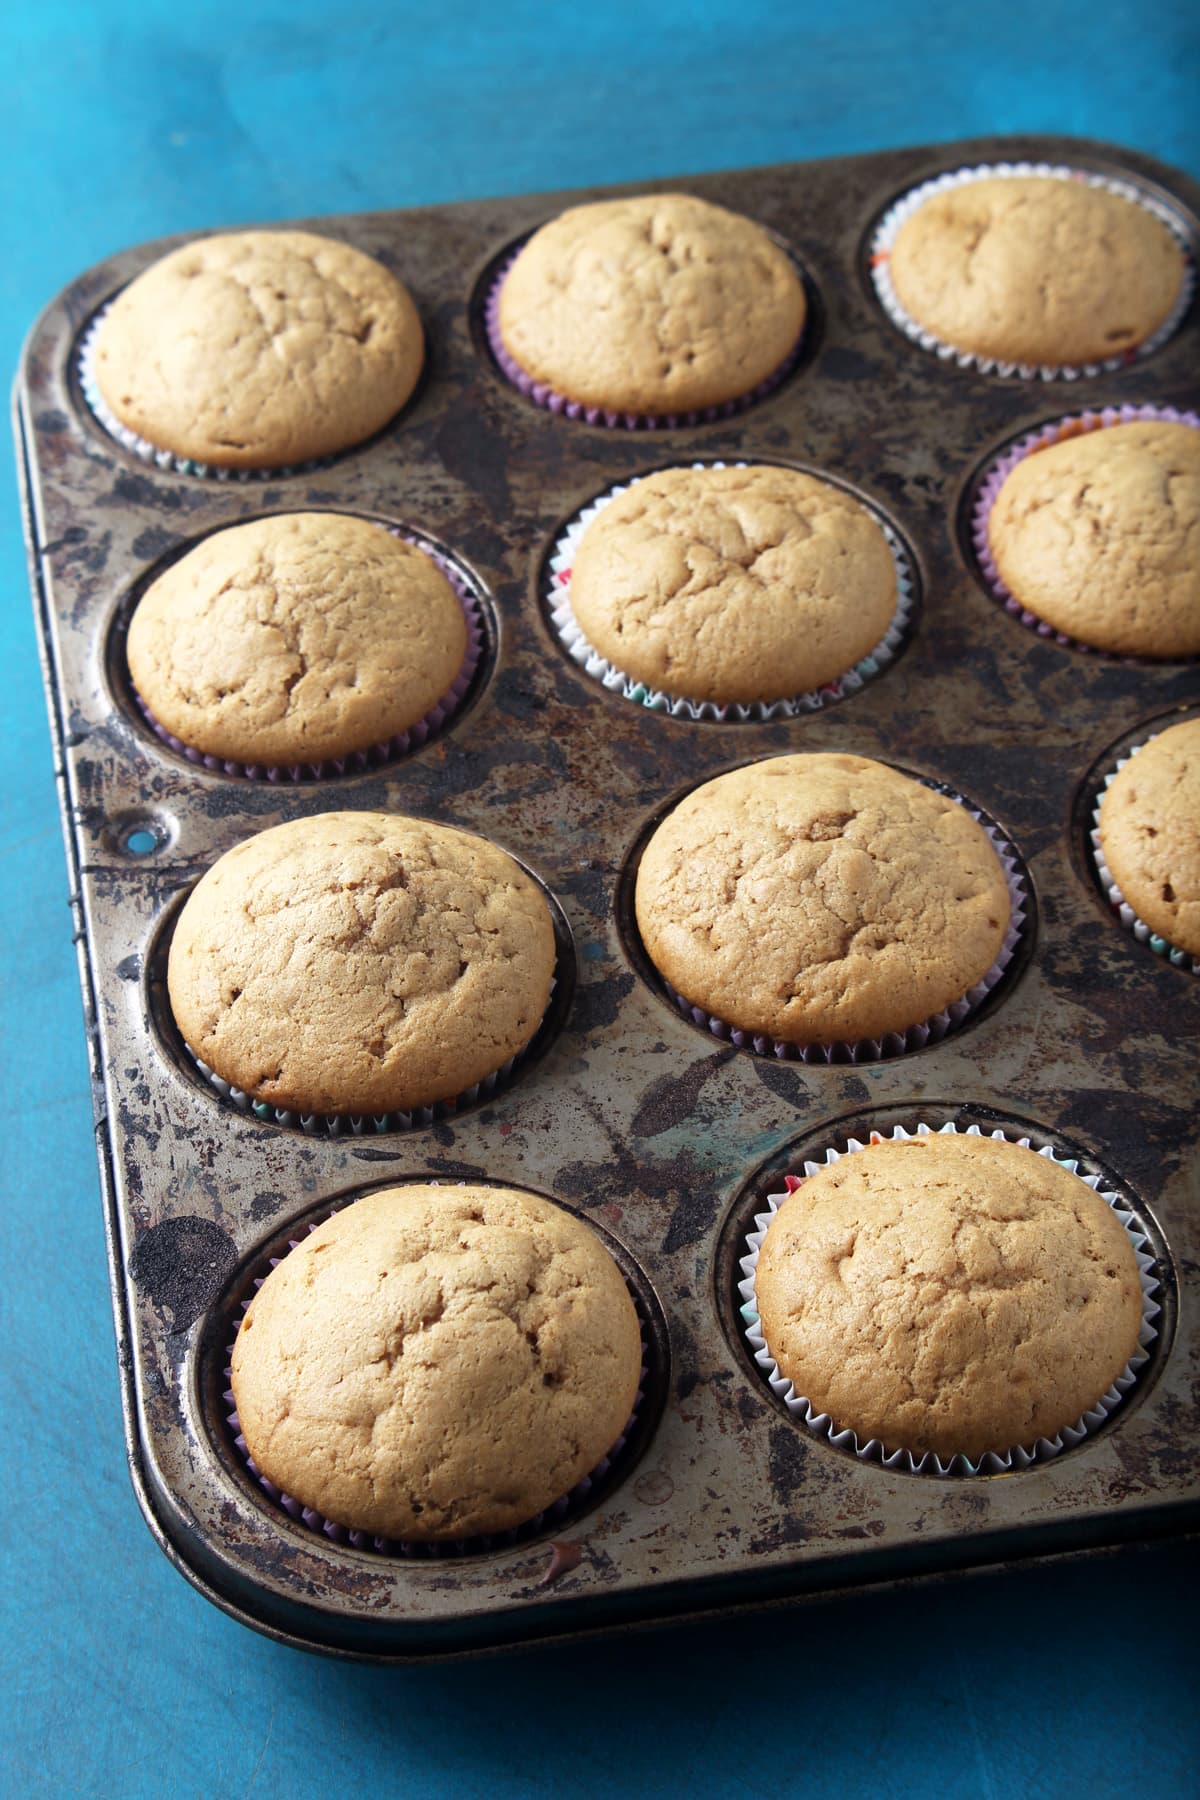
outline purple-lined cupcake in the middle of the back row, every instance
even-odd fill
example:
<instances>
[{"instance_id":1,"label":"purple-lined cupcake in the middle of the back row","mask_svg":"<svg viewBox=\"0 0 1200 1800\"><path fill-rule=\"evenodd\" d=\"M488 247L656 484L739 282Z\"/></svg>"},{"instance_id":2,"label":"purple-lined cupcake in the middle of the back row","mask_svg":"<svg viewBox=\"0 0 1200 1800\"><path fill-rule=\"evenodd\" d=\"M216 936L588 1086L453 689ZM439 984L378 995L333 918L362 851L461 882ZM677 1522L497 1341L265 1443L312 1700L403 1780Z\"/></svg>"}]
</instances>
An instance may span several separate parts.
<instances>
[{"instance_id":1,"label":"purple-lined cupcake in the middle of the back row","mask_svg":"<svg viewBox=\"0 0 1200 1800\"><path fill-rule=\"evenodd\" d=\"M502 275L489 335L542 405L610 423L703 416L783 373L804 326L786 250L689 194L572 207Z\"/></svg>"}]
</instances>

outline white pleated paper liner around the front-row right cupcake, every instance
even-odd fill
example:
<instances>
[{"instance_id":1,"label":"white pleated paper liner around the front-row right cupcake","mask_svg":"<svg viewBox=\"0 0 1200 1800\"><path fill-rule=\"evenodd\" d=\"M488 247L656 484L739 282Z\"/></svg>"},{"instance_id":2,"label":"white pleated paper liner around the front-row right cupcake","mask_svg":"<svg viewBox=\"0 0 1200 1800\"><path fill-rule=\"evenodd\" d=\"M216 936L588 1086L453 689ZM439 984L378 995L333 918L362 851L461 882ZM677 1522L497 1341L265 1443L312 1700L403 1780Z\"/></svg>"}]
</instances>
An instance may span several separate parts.
<instances>
[{"instance_id":1,"label":"white pleated paper liner around the front-row right cupcake","mask_svg":"<svg viewBox=\"0 0 1200 1800\"><path fill-rule=\"evenodd\" d=\"M954 1121L932 1127L918 1125L916 1130L905 1130L903 1125L896 1125L891 1132L892 1138L928 1138L934 1130L941 1134L957 1134L957 1125ZM964 1136L982 1138L984 1132L979 1125L968 1125ZM1015 1132L993 1130L988 1136L999 1138L1006 1143L1018 1143L1022 1148L1033 1148L1029 1138L1018 1138ZM883 1132L871 1132L867 1143L882 1143ZM824 1161L837 1163L840 1156L853 1156L856 1150L864 1150L865 1143L858 1138L849 1138L846 1141L846 1150L838 1152L833 1147L826 1148ZM1079 1165L1076 1157L1060 1156L1054 1148L1047 1147L1038 1150L1038 1156L1058 1163L1061 1168L1070 1170L1072 1175L1079 1174ZM806 1161L804 1177L815 1175L820 1163ZM1009 1449L997 1453L986 1451L979 1462L972 1462L968 1456L937 1456L934 1451L916 1453L903 1449L889 1449L880 1438L869 1438L865 1444L858 1442L858 1433L838 1426L828 1413L817 1413L811 1400L797 1393L793 1384L786 1375L781 1375L779 1364L772 1357L766 1337L763 1336L763 1327L757 1314L756 1300L756 1273L759 1249L763 1247L763 1238L766 1237L766 1228L770 1226L775 1211L786 1201L788 1193L793 1193L804 1181L801 1175L784 1175L784 1190L781 1193L766 1195L766 1211L757 1213L754 1219L754 1231L747 1233L747 1255L741 1258L743 1280L738 1283L738 1292L743 1298L741 1318L747 1343L754 1352L754 1361L765 1373L765 1379L772 1393L779 1395L792 1413L793 1418L801 1418L804 1426L813 1433L813 1436L837 1445L837 1449L851 1451L858 1462L882 1463L883 1469L901 1469L907 1474L930 1474L930 1476L981 1476L981 1474L1013 1474L1022 1469L1029 1469L1040 1462L1051 1462L1060 1451L1081 1444L1097 1426L1103 1426L1106 1418L1112 1417L1115 1408L1121 1404L1124 1395L1130 1391L1137 1381L1137 1373L1150 1359L1150 1345L1159 1336L1159 1328L1153 1323L1162 1310L1153 1294L1159 1289L1159 1280L1153 1271L1153 1256L1146 1255L1144 1244L1146 1235L1137 1229L1137 1220L1132 1211L1121 1206L1121 1197L1112 1192L1112 1188L1101 1186L1099 1175L1079 1175L1088 1188L1099 1193L1101 1201L1114 1210L1121 1224L1124 1226L1130 1244L1133 1246L1133 1255L1137 1258L1137 1276L1142 1289L1142 1325L1137 1334L1137 1350L1124 1364L1114 1384L1090 1406L1072 1426L1063 1426L1051 1438L1036 1438L1033 1444L1013 1444Z\"/></svg>"}]
</instances>

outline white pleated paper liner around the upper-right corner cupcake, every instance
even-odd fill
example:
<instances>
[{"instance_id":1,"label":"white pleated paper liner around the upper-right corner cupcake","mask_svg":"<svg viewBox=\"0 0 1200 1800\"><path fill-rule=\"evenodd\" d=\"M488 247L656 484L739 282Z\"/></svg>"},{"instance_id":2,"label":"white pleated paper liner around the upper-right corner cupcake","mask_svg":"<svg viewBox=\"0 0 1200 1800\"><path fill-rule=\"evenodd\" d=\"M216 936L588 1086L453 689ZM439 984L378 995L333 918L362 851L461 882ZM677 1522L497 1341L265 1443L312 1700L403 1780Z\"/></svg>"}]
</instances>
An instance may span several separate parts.
<instances>
[{"instance_id":1,"label":"white pleated paper liner around the upper-right corner cupcake","mask_svg":"<svg viewBox=\"0 0 1200 1800\"><path fill-rule=\"evenodd\" d=\"M936 337L909 311L905 311L896 288L892 286L891 274L891 254L900 227L912 218L918 207L925 205L927 200L932 200L934 194L943 194L952 187L964 187L968 182L993 178L1007 180L1029 175L1058 176L1060 180L1081 182L1085 187L1103 187L1106 193L1119 194L1121 200L1132 200L1135 205L1144 207L1146 212L1153 212L1153 216L1168 227L1184 261L1184 283L1171 313L1151 337L1135 344L1132 349L1123 351L1119 356L1108 356L1103 362L1016 364L1000 362L997 356L981 356L973 351L959 349L955 344L946 344L945 338ZM1164 205L1133 182L1121 182L1110 175L1096 175L1090 169L1070 169L1065 164L1051 162L979 164L970 169L954 169L948 175L937 175L930 182L921 182L919 187L909 189L907 194L901 194L900 200L887 209L874 230L874 236L871 238L869 257L871 281L880 304L892 324L903 331L907 338L912 338L912 342L919 344L921 349L941 356L943 362L957 364L959 369L979 369L981 374L1018 374L1024 382L1076 382L1081 376L1110 374L1114 369L1124 369L1130 362L1139 362L1142 356L1150 356L1178 329L1180 320L1191 306L1196 284L1187 232L1171 207Z\"/></svg>"}]
</instances>

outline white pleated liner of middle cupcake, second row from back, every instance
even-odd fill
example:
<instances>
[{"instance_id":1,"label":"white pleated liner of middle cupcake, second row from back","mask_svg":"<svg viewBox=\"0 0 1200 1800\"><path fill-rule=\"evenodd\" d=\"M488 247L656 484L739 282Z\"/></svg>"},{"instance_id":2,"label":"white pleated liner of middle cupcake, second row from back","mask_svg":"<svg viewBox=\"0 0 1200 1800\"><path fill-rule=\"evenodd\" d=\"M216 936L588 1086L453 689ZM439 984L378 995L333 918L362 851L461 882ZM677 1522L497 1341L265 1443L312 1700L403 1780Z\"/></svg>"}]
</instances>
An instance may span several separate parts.
<instances>
[{"instance_id":1,"label":"white pleated liner of middle cupcake, second row from back","mask_svg":"<svg viewBox=\"0 0 1200 1800\"><path fill-rule=\"evenodd\" d=\"M748 464L689 463L687 466L747 468ZM896 565L896 612L892 614L880 643L865 657L862 657L853 670L847 670L844 675L837 675L820 688L792 695L786 700L750 700L747 704L730 706L718 706L716 700L685 700L678 695L664 693L660 688L648 688L646 682L635 680L633 675L626 675L624 670L619 670L613 662L603 657L599 650L596 650L583 635L579 621L570 607L570 571L579 553L579 540L583 538L587 527L612 500L628 493L631 486L635 486L635 482L626 481L608 488L606 493L590 500L588 506L585 506L581 513L576 513L576 517L563 527L563 533L551 553L543 592L545 608L558 643L572 662L579 664L585 675L590 675L592 680L597 680L610 693L619 693L622 700L633 700L637 706L644 706L651 713L669 713L671 718L718 720L721 724L763 724L772 718L799 718L804 713L819 713L820 707L844 700L847 693L858 693L865 682L880 675L882 670L885 670L898 655L900 646L912 625L912 614L916 608L916 576L900 535L880 513L874 511L874 508L865 506L865 502L860 500L858 504L864 506L864 511L867 511L882 529L887 547L892 553L892 562Z\"/></svg>"}]
</instances>

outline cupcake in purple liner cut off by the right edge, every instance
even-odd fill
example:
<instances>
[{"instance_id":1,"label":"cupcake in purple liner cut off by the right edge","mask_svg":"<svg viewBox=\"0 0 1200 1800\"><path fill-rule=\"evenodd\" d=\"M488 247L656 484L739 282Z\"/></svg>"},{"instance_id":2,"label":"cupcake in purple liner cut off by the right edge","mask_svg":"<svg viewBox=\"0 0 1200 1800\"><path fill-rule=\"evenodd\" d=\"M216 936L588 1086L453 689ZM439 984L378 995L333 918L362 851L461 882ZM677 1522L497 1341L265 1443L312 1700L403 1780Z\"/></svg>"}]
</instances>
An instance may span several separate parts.
<instances>
[{"instance_id":1,"label":"cupcake in purple liner cut off by the right edge","mask_svg":"<svg viewBox=\"0 0 1200 1800\"><path fill-rule=\"evenodd\" d=\"M1200 430L1166 418L1040 439L986 511L1002 590L1115 655L1200 653L1198 540Z\"/></svg>"}]
</instances>

